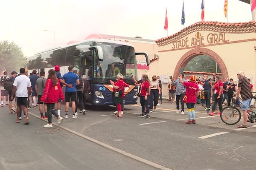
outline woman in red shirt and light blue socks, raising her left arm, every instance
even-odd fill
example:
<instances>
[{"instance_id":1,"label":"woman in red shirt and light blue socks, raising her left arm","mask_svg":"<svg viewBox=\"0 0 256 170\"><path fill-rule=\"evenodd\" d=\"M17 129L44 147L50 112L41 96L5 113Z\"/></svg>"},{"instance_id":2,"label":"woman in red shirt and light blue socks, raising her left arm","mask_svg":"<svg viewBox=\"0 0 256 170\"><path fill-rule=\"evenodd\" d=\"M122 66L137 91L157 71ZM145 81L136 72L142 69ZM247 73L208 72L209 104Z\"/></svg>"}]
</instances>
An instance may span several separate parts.
<instances>
[{"instance_id":1,"label":"woman in red shirt and light blue socks, raising her left arm","mask_svg":"<svg viewBox=\"0 0 256 170\"><path fill-rule=\"evenodd\" d=\"M196 99L199 96L199 88L195 83L196 77L194 75L189 76L189 82L183 82L181 74L180 74L180 83L182 83L186 87L186 105L188 109L189 120L185 122L186 124L195 124L195 103ZM192 120L191 120L192 117Z\"/></svg>"}]
</instances>

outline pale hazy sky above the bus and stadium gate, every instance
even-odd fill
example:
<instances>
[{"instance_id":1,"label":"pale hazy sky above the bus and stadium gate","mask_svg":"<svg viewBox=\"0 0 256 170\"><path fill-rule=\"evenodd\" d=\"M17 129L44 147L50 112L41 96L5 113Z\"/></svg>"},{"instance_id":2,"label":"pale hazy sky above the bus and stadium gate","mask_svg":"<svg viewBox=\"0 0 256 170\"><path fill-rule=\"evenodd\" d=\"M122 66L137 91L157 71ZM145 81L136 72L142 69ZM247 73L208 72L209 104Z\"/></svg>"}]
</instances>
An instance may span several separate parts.
<instances>
[{"instance_id":1,"label":"pale hazy sky above the bus and stadium gate","mask_svg":"<svg viewBox=\"0 0 256 170\"><path fill-rule=\"evenodd\" d=\"M84 40L93 33L157 40L168 9L169 35L180 31L183 0L1 0L0 41L14 41L25 56ZM202 0L184 0L185 26L201 20ZM252 20L250 5L228 1L229 22ZM205 0L205 20L227 22L224 0Z\"/></svg>"}]
</instances>

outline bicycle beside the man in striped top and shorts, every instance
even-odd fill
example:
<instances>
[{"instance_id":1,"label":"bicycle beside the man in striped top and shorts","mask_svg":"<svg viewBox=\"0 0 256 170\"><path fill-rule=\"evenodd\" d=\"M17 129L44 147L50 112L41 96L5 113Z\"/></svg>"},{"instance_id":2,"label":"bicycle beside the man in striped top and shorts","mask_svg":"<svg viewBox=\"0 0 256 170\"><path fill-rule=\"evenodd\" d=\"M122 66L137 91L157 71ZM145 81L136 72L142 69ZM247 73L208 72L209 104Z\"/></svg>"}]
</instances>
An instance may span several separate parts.
<instances>
[{"instance_id":1,"label":"bicycle beside the man in striped top and shorts","mask_svg":"<svg viewBox=\"0 0 256 170\"><path fill-rule=\"evenodd\" d=\"M241 100L241 98L239 97ZM253 96L253 99L256 99L256 96ZM227 125L235 125L241 119L241 102L232 98L232 106L227 106L221 110L221 120L222 122L226 123ZM253 105L249 106L247 111L248 119L251 123L256 121L256 111L253 110Z\"/></svg>"}]
</instances>

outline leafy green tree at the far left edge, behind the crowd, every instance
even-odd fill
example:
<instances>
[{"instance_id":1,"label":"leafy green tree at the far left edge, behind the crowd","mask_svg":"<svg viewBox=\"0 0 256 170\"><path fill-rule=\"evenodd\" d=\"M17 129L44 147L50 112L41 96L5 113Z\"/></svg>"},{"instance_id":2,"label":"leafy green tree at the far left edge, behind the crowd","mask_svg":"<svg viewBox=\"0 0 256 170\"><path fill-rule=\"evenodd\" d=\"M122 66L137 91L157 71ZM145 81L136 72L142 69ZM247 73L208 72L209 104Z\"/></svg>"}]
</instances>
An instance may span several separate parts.
<instances>
[{"instance_id":1,"label":"leafy green tree at the far left edge, behind the crowd","mask_svg":"<svg viewBox=\"0 0 256 170\"><path fill-rule=\"evenodd\" d=\"M25 57L22 49L14 42L7 40L0 42L0 74L6 70L9 74L12 71L19 71L25 65Z\"/></svg>"}]
</instances>

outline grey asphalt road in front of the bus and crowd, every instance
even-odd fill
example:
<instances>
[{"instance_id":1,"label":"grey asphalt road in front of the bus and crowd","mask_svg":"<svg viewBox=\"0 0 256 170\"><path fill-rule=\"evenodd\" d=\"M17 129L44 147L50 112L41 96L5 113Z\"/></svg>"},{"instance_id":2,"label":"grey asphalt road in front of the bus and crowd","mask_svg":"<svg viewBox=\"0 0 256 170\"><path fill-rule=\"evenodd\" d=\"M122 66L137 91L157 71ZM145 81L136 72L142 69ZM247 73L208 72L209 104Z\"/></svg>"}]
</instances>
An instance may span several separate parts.
<instances>
[{"instance_id":1,"label":"grey asphalt road in front of the bus and crowd","mask_svg":"<svg viewBox=\"0 0 256 170\"><path fill-rule=\"evenodd\" d=\"M28 126L17 124L6 106L0 108L0 170L157 169L140 159L172 170L256 170L256 124L238 130L236 125L222 123L218 116L208 116L201 106L196 108L200 118L196 125L186 125L187 115L175 113L175 105L168 102L158 106L151 119L138 118L140 109L139 105L125 105L125 115L117 119L113 107L89 107L87 115L65 119L61 127L54 126L48 133L43 128L46 122L37 117L29 115ZM40 115L38 109L29 112ZM83 136L140 159L131 159Z\"/></svg>"}]
</instances>

